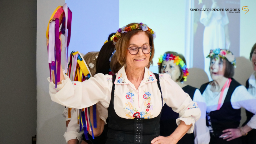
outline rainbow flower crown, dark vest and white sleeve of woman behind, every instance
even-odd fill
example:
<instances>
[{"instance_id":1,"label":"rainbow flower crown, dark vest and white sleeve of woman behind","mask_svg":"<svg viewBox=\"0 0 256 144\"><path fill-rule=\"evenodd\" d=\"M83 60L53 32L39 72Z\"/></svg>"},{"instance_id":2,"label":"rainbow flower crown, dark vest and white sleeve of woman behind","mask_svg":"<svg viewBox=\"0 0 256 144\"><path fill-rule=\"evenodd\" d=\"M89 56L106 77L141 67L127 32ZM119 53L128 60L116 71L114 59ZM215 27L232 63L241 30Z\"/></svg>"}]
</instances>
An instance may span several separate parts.
<instances>
[{"instance_id":1,"label":"rainbow flower crown, dark vest and white sleeve of woman behind","mask_svg":"<svg viewBox=\"0 0 256 144\"><path fill-rule=\"evenodd\" d=\"M176 63L176 65L179 65L183 72L184 81L187 80L189 72L187 71L187 66L185 65L184 61L179 58L179 56L165 53L164 55L160 56L158 66L160 66L162 61L173 61L174 63ZM197 102L201 110L201 118L197 122L195 122L194 133L185 134L177 144L208 144L210 142L210 134L205 122L206 104L204 98L202 97L199 89L192 86L184 86L182 90L189 94L190 98L194 102ZM160 118L160 135L167 137L172 134L178 127L176 124L176 119L178 118L179 114L174 112L174 110L172 110L171 107L167 106L167 104L164 104L162 109L162 115Z\"/></svg>"}]
</instances>

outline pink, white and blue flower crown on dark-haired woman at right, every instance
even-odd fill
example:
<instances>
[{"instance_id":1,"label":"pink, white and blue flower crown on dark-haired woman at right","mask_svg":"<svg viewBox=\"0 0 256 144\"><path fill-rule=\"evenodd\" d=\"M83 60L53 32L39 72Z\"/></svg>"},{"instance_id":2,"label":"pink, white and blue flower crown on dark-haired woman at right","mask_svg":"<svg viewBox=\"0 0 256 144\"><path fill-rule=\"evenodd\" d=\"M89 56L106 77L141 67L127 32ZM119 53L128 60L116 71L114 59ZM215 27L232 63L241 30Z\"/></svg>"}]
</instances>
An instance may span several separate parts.
<instances>
[{"instance_id":1,"label":"pink, white and blue flower crown on dark-haired woman at right","mask_svg":"<svg viewBox=\"0 0 256 144\"><path fill-rule=\"evenodd\" d=\"M216 48L215 50L210 50L210 53L207 56L207 58L213 58L215 55L219 56L220 58L225 58L234 67L236 67L235 56L229 50L224 50L224 49L220 49L220 48Z\"/></svg>"}]
</instances>

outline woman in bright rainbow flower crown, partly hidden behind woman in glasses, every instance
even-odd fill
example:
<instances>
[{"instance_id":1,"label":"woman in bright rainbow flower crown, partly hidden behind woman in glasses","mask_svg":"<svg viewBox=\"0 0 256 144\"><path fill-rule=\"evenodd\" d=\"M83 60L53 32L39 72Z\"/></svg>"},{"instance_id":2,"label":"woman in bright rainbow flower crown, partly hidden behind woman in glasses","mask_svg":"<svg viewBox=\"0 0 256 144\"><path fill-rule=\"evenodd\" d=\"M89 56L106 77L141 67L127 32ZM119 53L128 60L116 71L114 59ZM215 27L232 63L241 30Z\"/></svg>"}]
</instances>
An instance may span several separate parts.
<instances>
[{"instance_id":1,"label":"woman in bright rainbow flower crown, partly hidden behind woman in glasses","mask_svg":"<svg viewBox=\"0 0 256 144\"><path fill-rule=\"evenodd\" d=\"M187 81L189 72L187 71L186 60L183 55L176 52L165 52L161 55L158 62L159 73L169 74L173 81L175 81L194 102L197 102L201 110L200 119L195 122L195 129L193 133L187 133L182 137L178 144L208 144L210 142L209 129L206 126L206 104L199 89L183 84ZM176 119L179 114L174 112L171 107L164 104L162 115L160 118L160 135L168 136L177 128Z\"/></svg>"}]
</instances>

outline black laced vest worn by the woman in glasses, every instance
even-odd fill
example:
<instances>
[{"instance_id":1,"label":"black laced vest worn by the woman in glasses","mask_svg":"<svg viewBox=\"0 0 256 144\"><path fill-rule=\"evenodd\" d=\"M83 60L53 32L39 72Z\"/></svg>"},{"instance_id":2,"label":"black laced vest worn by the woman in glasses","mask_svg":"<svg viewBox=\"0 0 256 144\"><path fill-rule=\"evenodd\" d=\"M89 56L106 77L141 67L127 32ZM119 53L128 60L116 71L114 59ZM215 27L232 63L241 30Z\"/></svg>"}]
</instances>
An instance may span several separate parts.
<instances>
[{"instance_id":1,"label":"black laced vest worn by the woman in glasses","mask_svg":"<svg viewBox=\"0 0 256 144\"><path fill-rule=\"evenodd\" d=\"M155 74L155 73L154 73ZM159 75L155 74L157 79L158 88L161 91L159 83ZM116 75L113 75L113 86L111 92L111 101L108 107L108 133L106 144L150 144L150 142L159 136L159 120L161 117L161 112L157 117L152 119L134 118L125 119L119 117L114 109L114 91L115 84L114 81ZM163 98L161 96L162 102Z\"/></svg>"}]
</instances>

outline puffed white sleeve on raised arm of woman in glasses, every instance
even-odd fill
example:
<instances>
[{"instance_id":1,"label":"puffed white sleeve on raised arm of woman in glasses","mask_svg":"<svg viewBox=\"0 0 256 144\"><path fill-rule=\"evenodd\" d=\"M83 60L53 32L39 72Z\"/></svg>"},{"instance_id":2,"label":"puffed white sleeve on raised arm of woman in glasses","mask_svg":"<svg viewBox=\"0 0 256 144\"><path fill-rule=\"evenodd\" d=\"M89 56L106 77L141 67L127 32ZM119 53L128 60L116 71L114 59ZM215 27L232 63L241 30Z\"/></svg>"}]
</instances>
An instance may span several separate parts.
<instances>
[{"instance_id":1,"label":"puffed white sleeve on raised arm of woman in glasses","mask_svg":"<svg viewBox=\"0 0 256 144\"><path fill-rule=\"evenodd\" d=\"M64 80L57 85L48 78L49 93L52 101L66 107L82 109L101 102L104 107L109 106L112 89L112 75L96 74L90 79L79 82L71 81L64 74Z\"/></svg>"}]
</instances>

